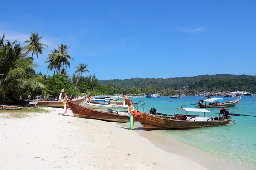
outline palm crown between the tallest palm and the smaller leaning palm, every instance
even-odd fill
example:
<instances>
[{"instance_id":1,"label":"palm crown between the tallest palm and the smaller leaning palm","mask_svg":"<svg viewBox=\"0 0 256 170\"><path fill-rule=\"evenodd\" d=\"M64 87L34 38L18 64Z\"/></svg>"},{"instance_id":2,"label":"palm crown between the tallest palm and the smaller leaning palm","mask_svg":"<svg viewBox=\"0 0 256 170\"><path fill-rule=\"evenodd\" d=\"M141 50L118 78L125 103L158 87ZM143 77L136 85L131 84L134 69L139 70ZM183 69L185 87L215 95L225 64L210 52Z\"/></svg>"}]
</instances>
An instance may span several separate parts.
<instances>
[{"instance_id":1,"label":"palm crown between the tallest palm and the smaller leaning palm","mask_svg":"<svg viewBox=\"0 0 256 170\"><path fill-rule=\"evenodd\" d=\"M70 62L68 59L73 59L70 55L67 54L69 47L67 45L58 45L58 50L54 49L52 51L52 54L49 54L49 57L52 57L54 59L54 67L57 69L57 74L61 74L61 67L62 65L67 67L70 67Z\"/></svg>"}]
</instances>

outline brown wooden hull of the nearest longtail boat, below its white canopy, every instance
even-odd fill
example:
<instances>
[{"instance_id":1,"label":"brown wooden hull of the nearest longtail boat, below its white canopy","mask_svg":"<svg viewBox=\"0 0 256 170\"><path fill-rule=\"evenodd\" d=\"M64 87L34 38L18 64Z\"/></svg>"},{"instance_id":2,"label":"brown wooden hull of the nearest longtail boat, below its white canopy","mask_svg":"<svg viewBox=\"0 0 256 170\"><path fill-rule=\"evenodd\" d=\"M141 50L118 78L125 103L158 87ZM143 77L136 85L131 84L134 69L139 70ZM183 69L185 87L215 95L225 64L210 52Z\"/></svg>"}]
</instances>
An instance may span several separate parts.
<instances>
[{"instance_id":1,"label":"brown wooden hull of the nearest longtail boat, below its white canopy","mask_svg":"<svg viewBox=\"0 0 256 170\"><path fill-rule=\"evenodd\" d=\"M142 113L136 117L140 124L145 130L164 130L164 129L191 129L198 127L211 127L218 125L226 125L229 123L230 118L225 118L224 120L214 120L214 121L187 121L171 119L170 117L161 117L156 115L151 115L148 113Z\"/></svg>"}]
</instances>

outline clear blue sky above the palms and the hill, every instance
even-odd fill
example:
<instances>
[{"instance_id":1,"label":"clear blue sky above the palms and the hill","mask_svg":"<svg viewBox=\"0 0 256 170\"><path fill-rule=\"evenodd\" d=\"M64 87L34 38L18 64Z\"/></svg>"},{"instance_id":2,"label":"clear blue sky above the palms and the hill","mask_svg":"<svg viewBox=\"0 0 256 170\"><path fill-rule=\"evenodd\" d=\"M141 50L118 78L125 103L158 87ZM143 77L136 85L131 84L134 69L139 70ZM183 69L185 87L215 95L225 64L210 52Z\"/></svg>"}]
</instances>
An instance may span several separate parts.
<instances>
[{"instance_id":1,"label":"clear blue sky above the palms and the hill","mask_svg":"<svg viewBox=\"0 0 256 170\"><path fill-rule=\"evenodd\" d=\"M0 34L23 45L30 32L50 50L70 45L99 80L256 73L255 0L44 0L1 2ZM52 72L50 73L52 74ZM86 75L86 74L84 74Z\"/></svg>"}]
</instances>

